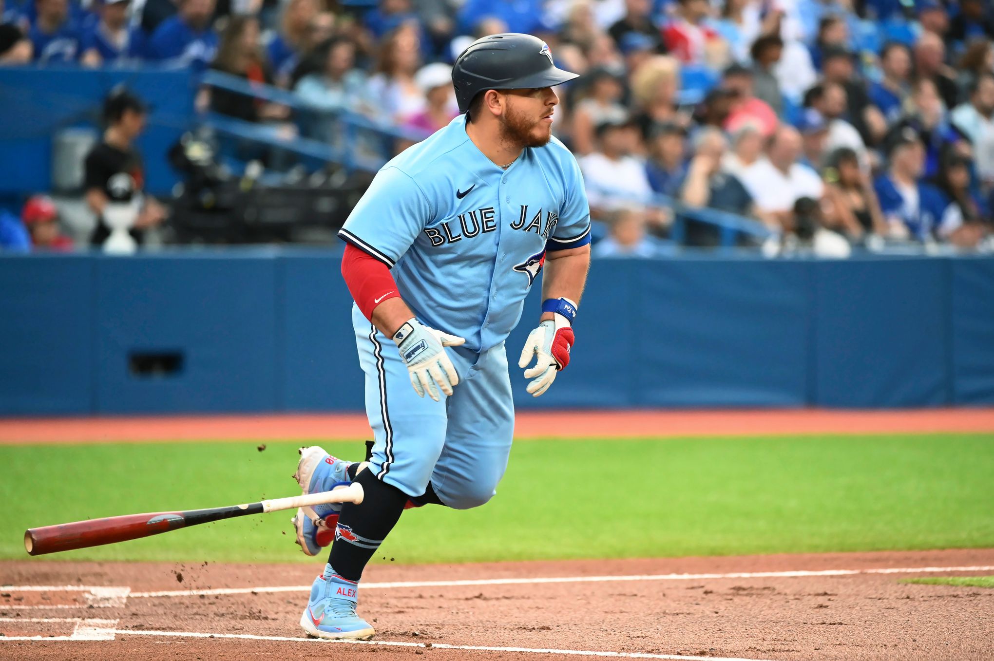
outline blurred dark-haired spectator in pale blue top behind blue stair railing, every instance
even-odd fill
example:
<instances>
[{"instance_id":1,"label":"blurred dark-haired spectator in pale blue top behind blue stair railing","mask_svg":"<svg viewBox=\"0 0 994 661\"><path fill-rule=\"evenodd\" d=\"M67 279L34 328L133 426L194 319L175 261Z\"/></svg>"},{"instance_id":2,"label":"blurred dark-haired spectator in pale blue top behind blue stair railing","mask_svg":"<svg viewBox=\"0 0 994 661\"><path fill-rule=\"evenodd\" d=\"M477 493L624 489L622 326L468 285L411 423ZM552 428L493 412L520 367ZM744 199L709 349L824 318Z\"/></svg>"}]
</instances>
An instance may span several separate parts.
<instances>
[{"instance_id":1,"label":"blurred dark-haired spectator in pale blue top behind blue stair railing","mask_svg":"<svg viewBox=\"0 0 994 661\"><path fill-rule=\"evenodd\" d=\"M332 37L318 47L317 53L324 62L324 71L300 79L294 87L300 100L326 112L361 109L366 75L355 68L356 46L352 40Z\"/></svg>"}]
</instances>

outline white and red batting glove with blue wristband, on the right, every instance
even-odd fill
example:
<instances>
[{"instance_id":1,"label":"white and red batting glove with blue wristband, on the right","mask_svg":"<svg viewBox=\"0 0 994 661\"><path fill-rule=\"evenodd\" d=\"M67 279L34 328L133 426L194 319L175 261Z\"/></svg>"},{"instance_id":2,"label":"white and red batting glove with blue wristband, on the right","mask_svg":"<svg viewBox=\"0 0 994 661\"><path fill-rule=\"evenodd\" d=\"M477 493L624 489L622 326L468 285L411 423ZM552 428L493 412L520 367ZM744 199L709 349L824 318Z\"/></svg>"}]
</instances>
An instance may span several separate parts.
<instances>
[{"instance_id":1,"label":"white and red batting glove with blue wristband, on the right","mask_svg":"<svg viewBox=\"0 0 994 661\"><path fill-rule=\"evenodd\" d=\"M553 318L543 321L529 334L521 350L518 367L527 368L535 357L535 366L525 370L525 379L532 379L525 390L539 397L556 381L556 373L570 364L570 349L575 338L573 320L577 304L569 298L553 298L542 305L543 312L553 312Z\"/></svg>"}]
</instances>

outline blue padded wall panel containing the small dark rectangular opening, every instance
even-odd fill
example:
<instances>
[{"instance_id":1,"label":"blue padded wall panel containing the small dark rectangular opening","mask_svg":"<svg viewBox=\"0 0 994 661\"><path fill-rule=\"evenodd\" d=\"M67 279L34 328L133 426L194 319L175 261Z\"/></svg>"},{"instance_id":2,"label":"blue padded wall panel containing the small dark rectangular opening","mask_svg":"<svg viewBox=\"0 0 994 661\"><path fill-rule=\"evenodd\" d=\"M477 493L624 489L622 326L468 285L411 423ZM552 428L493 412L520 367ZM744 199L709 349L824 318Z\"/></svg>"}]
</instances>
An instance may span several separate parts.
<instances>
[{"instance_id":1,"label":"blue padded wall panel containing the small dark rectangular opening","mask_svg":"<svg viewBox=\"0 0 994 661\"><path fill-rule=\"evenodd\" d=\"M97 257L96 413L275 410L275 264L254 252ZM181 351L183 369L133 376L133 351Z\"/></svg>"}]
</instances>

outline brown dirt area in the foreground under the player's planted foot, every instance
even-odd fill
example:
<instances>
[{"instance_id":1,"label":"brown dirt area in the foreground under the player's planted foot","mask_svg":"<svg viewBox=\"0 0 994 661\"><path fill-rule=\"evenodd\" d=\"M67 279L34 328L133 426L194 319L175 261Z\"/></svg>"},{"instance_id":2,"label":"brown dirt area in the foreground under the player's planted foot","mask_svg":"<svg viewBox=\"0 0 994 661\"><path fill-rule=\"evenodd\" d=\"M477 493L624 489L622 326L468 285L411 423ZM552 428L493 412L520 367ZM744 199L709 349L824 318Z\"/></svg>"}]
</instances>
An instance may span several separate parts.
<instances>
[{"instance_id":1,"label":"brown dirt area in the foreground under the player's planted foot","mask_svg":"<svg viewBox=\"0 0 994 661\"><path fill-rule=\"evenodd\" d=\"M994 550L375 566L374 645L304 639L316 565L4 563L0 658L994 658L994 590L899 582Z\"/></svg>"}]
</instances>

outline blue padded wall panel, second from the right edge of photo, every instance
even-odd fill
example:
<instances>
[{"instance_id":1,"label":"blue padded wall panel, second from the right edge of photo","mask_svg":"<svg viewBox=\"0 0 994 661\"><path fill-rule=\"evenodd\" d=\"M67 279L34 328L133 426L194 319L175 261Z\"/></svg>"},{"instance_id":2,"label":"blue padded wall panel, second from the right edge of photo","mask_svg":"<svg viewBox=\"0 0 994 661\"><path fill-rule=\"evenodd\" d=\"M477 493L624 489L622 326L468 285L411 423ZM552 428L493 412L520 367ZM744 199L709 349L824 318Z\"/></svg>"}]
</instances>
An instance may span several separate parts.
<instances>
[{"instance_id":1,"label":"blue padded wall panel, second from the right edge of photo","mask_svg":"<svg viewBox=\"0 0 994 661\"><path fill-rule=\"evenodd\" d=\"M813 262L816 383L822 407L949 403L946 259Z\"/></svg>"}]
</instances>

